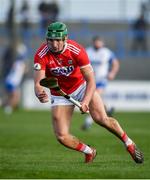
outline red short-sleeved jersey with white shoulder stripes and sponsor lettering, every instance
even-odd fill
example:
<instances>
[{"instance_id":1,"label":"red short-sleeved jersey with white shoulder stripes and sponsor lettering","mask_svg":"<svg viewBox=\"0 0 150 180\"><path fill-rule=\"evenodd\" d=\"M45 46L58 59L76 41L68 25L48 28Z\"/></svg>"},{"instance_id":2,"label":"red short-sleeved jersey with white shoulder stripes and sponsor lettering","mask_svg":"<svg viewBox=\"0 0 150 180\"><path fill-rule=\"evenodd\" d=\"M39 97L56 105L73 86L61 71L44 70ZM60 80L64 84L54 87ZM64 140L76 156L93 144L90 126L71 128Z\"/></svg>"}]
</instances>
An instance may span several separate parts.
<instances>
[{"instance_id":1,"label":"red short-sleeved jersey with white shoulder stripes and sponsor lettering","mask_svg":"<svg viewBox=\"0 0 150 180\"><path fill-rule=\"evenodd\" d=\"M46 77L56 77L60 88L67 94L74 92L85 80L80 68L90 64L84 48L67 40L60 54L52 53L44 43L34 56L34 64L45 70ZM52 95L59 95L51 89Z\"/></svg>"}]
</instances>

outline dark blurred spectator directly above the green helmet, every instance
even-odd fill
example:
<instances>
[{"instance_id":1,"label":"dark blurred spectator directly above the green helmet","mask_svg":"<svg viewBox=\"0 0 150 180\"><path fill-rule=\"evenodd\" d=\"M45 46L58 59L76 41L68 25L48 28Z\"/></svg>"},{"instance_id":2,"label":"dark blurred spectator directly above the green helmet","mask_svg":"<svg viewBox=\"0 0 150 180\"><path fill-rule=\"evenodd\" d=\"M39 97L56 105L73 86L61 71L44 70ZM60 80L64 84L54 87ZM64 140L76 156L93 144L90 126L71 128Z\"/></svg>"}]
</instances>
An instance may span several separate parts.
<instances>
[{"instance_id":1,"label":"dark blurred spectator directly above the green helmet","mask_svg":"<svg viewBox=\"0 0 150 180\"><path fill-rule=\"evenodd\" d=\"M59 7L56 0L53 0L51 2L43 0L38 6L38 10L41 15L41 20L40 20L41 34L45 35L45 30L47 29L47 26L50 23L57 21L59 14Z\"/></svg>"}]
</instances>

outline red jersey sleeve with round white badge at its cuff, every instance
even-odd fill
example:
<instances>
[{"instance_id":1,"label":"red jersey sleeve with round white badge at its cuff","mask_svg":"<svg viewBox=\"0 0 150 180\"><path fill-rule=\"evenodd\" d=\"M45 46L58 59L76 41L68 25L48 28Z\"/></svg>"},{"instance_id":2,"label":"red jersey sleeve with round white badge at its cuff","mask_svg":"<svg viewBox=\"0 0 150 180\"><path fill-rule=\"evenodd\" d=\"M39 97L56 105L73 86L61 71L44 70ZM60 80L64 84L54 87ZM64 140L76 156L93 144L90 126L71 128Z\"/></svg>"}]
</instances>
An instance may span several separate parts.
<instances>
[{"instance_id":1,"label":"red jersey sleeve with round white badge at its cuff","mask_svg":"<svg viewBox=\"0 0 150 180\"><path fill-rule=\"evenodd\" d=\"M46 61L44 58L40 58L38 54L34 56L34 70L46 70Z\"/></svg>"}]
</instances>

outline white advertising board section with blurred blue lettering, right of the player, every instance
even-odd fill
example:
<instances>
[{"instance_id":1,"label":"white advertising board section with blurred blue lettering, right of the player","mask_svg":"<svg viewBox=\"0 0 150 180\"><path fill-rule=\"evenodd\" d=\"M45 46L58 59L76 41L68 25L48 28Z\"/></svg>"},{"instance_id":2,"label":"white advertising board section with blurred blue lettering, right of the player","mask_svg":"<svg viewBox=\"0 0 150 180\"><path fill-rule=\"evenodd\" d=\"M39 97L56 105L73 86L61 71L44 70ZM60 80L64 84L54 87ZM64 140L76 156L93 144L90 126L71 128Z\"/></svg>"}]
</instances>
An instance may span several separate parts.
<instances>
[{"instance_id":1,"label":"white advertising board section with blurred blue lettering, right of the player","mask_svg":"<svg viewBox=\"0 0 150 180\"><path fill-rule=\"evenodd\" d=\"M103 98L108 107L117 111L150 111L150 82L110 82Z\"/></svg>"}]
</instances>

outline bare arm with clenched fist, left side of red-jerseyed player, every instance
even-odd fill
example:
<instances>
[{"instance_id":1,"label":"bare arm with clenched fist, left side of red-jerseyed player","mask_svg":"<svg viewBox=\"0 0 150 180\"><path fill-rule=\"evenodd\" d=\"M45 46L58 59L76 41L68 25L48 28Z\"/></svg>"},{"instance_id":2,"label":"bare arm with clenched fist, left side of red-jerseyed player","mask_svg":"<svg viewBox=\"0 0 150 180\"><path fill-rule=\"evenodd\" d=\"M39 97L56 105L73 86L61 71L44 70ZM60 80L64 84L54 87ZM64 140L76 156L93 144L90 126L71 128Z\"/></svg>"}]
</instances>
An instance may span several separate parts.
<instances>
[{"instance_id":1,"label":"bare arm with clenched fist, left side of red-jerseyed player","mask_svg":"<svg viewBox=\"0 0 150 180\"><path fill-rule=\"evenodd\" d=\"M34 91L36 97L41 103L48 102L48 95L45 92L43 86L40 85L40 80L45 78L45 70L34 71Z\"/></svg>"}]
</instances>

